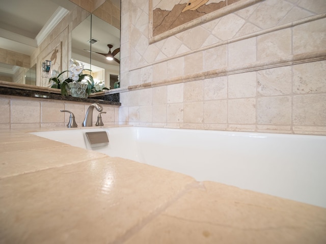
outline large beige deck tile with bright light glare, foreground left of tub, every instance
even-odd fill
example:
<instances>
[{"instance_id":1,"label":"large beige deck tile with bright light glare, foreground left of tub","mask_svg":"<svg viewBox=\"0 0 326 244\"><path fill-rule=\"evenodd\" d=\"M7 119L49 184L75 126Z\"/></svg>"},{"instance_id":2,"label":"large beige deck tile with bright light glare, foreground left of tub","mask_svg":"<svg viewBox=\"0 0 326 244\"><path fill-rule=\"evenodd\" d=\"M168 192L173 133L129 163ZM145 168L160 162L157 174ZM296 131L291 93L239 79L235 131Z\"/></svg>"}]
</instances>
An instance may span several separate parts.
<instances>
[{"instance_id":1,"label":"large beige deck tile with bright light glare, foreground left of tub","mask_svg":"<svg viewBox=\"0 0 326 244\"><path fill-rule=\"evenodd\" d=\"M3 243L123 240L193 181L109 157L9 177L0 181L0 236Z\"/></svg>"}]
</instances>

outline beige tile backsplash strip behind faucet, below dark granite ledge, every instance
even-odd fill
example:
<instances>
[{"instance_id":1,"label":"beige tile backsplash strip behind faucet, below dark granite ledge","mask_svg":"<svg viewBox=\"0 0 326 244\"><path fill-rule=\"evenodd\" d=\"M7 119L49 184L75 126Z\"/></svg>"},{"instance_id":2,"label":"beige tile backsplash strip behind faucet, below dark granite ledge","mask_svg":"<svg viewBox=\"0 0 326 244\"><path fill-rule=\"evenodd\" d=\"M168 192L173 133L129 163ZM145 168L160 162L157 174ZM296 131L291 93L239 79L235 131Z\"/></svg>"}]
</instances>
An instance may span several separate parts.
<instances>
[{"instance_id":1,"label":"beige tile backsplash strip behind faucet, below dark granite ledge","mask_svg":"<svg viewBox=\"0 0 326 244\"><path fill-rule=\"evenodd\" d=\"M77 126L82 127L86 111L91 103L80 103L60 100L23 98L0 95L0 129L17 128L52 128L65 127L73 112ZM116 125L119 119L119 106L102 104L102 121L104 126ZM93 112L93 126L98 112Z\"/></svg>"}]
</instances>

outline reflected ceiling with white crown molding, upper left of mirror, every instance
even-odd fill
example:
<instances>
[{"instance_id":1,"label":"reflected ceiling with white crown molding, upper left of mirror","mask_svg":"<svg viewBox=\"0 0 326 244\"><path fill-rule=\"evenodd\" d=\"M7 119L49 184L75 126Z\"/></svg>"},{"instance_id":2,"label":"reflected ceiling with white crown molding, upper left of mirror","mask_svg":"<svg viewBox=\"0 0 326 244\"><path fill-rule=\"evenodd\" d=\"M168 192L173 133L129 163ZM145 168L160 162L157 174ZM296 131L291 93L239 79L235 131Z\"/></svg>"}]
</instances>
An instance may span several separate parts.
<instances>
[{"instance_id":1,"label":"reflected ceiling with white crown molding, upper left of mirror","mask_svg":"<svg viewBox=\"0 0 326 244\"><path fill-rule=\"evenodd\" d=\"M63 8L61 2L0 0L0 47L31 55L74 6L66 1Z\"/></svg>"}]
</instances>

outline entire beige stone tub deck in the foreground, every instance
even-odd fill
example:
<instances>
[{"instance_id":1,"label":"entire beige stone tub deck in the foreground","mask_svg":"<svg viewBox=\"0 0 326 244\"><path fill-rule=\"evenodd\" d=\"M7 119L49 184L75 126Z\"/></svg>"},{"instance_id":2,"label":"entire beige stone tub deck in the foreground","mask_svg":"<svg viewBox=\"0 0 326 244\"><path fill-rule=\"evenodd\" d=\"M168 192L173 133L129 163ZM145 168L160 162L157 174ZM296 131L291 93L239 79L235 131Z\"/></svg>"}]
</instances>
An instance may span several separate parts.
<instances>
[{"instance_id":1,"label":"entire beige stone tub deck in the foreground","mask_svg":"<svg viewBox=\"0 0 326 244\"><path fill-rule=\"evenodd\" d=\"M0 243L326 243L326 208L24 131L0 159Z\"/></svg>"}]
</instances>

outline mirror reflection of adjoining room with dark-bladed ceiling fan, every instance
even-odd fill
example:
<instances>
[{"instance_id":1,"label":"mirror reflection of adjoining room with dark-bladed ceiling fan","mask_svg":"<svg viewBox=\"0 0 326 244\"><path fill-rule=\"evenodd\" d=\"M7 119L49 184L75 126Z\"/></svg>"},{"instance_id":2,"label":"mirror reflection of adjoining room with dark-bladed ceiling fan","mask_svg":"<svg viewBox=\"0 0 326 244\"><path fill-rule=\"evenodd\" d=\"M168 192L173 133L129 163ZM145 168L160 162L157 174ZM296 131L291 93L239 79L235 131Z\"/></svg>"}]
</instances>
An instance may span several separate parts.
<instances>
[{"instance_id":1,"label":"mirror reflection of adjoining room with dark-bladed ceiling fan","mask_svg":"<svg viewBox=\"0 0 326 244\"><path fill-rule=\"evenodd\" d=\"M91 29L92 36L87 35L85 29ZM120 72L120 30L91 15L73 29L71 43L71 57L82 62L85 69L92 70L96 91L103 87L113 89L116 80L111 79ZM108 45L112 45L111 50ZM107 54L114 54L114 60L108 60Z\"/></svg>"}]
</instances>

